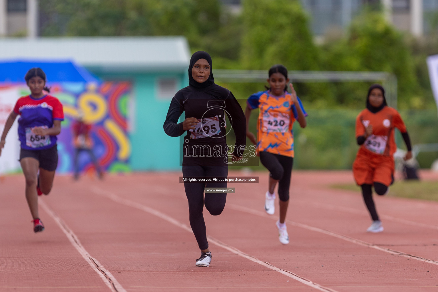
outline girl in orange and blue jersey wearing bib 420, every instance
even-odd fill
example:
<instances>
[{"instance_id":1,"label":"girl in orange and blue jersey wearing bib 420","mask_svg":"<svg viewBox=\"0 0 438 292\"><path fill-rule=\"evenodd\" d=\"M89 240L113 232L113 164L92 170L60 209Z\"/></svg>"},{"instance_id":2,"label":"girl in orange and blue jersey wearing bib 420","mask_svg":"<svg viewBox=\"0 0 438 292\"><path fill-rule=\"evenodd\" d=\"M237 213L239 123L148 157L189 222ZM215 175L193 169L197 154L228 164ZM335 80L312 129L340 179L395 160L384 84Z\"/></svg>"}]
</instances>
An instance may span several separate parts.
<instances>
[{"instance_id":1,"label":"girl in orange and blue jersey wearing bib 420","mask_svg":"<svg viewBox=\"0 0 438 292\"><path fill-rule=\"evenodd\" d=\"M275 187L278 182L280 218L277 221L279 240L289 243L286 229L286 212L289 205L290 177L293 166L293 123L298 121L301 128L307 125L303 104L297 97L292 83L289 83L287 69L275 65L269 69L267 79L270 88L252 94L247 100L245 116L247 127L253 109L259 108L257 121L257 140L247 128L247 137L254 145L260 161L269 170L269 189L265 194L265 211L272 215L275 209ZM291 93L286 91L289 83Z\"/></svg>"}]
</instances>

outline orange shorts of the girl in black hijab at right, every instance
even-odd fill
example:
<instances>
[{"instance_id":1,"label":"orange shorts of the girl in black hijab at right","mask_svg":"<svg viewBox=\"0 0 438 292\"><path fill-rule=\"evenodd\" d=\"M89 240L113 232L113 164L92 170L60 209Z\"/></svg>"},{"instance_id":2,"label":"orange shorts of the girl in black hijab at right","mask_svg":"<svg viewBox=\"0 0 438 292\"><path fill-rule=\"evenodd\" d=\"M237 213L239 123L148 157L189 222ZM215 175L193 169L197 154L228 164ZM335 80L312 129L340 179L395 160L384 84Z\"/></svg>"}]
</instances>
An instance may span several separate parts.
<instances>
[{"instance_id":1,"label":"orange shorts of the girl in black hijab at right","mask_svg":"<svg viewBox=\"0 0 438 292\"><path fill-rule=\"evenodd\" d=\"M379 182L388 187L393 182L394 158L360 147L353 163L353 175L358 185Z\"/></svg>"}]
</instances>

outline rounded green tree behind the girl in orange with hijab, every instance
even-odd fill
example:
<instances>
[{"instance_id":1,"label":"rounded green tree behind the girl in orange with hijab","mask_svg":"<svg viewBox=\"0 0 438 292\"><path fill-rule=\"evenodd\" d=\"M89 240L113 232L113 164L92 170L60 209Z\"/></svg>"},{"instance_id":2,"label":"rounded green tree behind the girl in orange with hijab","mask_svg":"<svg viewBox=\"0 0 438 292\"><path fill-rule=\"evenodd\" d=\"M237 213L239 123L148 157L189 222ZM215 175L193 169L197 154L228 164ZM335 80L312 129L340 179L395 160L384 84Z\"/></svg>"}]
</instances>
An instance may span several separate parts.
<instances>
[{"instance_id":1,"label":"rounded green tree behind the girl in orange with hijab","mask_svg":"<svg viewBox=\"0 0 438 292\"><path fill-rule=\"evenodd\" d=\"M381 12L366 10L352 22L345 38L324 46L322 56L326 70L394 73L398 79L399 104L402 106L408 106L410 97L419 90L413 58L405 39ZM352 96L365 98L365 85L338 85L337 102L351 104L355 103Z\"/></svg>"}]
</instances>

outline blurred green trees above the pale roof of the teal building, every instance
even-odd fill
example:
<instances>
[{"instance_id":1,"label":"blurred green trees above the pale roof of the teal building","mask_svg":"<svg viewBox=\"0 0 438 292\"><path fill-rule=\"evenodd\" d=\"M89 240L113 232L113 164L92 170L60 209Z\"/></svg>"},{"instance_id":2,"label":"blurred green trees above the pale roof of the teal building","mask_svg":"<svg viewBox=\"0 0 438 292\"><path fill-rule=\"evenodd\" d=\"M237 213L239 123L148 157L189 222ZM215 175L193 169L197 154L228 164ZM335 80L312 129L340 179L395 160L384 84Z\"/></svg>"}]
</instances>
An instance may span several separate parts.
<instances>
[{"instance_id":1,"label":"blurred green trees above the pale roof of the teal building","mask_svg":"<svg viewBox=\"0 0 438 292\"><path fill-rule=\"evenodd\" d=\"M219 29L218 0L41 0L43 36L184 35Z\"/></svg>"}]
</instances>

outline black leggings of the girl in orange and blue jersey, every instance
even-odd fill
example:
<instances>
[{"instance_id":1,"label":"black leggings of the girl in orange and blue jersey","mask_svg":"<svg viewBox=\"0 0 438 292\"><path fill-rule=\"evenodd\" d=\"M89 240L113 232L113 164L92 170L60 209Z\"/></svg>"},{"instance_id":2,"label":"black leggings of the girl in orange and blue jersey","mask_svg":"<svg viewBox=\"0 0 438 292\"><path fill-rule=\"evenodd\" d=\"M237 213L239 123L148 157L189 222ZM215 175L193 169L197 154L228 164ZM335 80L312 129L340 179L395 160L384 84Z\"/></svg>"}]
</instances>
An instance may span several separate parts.
<instances>
[{"instance_id":1,"label":"black leggings of the girl in orange and blue jersey","mask_svg":"<svg viewBox=\"0 0 438 292\"><path fill-rule=\"evenodd\" d=\"M269 170L269 176L278 180L278 196L280 201L289 200L290 176L292 175L293 157L260 152L260 161Z\"/></svg>"}]
</instances>

